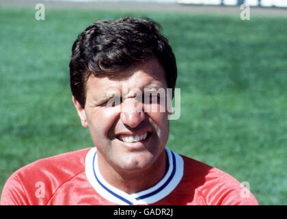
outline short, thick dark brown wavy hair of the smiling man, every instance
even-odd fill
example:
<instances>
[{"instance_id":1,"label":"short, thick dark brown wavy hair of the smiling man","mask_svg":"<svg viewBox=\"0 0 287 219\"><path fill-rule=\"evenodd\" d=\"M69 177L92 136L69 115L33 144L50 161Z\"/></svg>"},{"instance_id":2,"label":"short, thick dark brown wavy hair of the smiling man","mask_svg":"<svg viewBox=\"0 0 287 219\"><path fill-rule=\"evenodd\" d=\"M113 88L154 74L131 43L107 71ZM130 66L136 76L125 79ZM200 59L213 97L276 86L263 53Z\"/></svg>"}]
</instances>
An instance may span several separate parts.
<instances>
[{"instance_id":1,"label":"short, thick dark brown wavy hair of the smiling man","mask_svg":"<svg viewBox=\"0 0 287 219\"><path fill-rule=\"evenodd\" d=\"M72 45L70 87L85 107L85 84L94 74L115 75L119 70L156 57L163 69L167 87L176 86L176 58L161 25L150 18L124 17L92 23Z\"/></svg>"}]
</instances>

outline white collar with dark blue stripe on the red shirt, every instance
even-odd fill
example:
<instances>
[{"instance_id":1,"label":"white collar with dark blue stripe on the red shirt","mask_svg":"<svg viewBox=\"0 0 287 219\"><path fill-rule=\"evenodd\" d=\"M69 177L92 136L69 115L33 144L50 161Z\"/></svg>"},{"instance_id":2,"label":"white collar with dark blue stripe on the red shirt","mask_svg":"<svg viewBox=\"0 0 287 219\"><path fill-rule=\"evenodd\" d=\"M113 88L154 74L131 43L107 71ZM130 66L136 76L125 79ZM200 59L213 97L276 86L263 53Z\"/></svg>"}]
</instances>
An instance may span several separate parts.
<instances>
[{"instance_id":1,"label":"white collar with dark blue stripe on the red shirt","mask_svg":"<svg viewBox=\"0 0 287 219\"><path fill-rule=\"evenodd\" d=\"M98 170L98 155L96 147L90 149L85 157L85 175L93 188L111 203L119 205L139 205L152 204L163 199L170 194L178 185L183 176L183 159L180 155L165 148L167 153L169 167L163 179L156 185L137 192L135 194L127 194L113 187L105 181Z\"/></svg>"}]
</instances>

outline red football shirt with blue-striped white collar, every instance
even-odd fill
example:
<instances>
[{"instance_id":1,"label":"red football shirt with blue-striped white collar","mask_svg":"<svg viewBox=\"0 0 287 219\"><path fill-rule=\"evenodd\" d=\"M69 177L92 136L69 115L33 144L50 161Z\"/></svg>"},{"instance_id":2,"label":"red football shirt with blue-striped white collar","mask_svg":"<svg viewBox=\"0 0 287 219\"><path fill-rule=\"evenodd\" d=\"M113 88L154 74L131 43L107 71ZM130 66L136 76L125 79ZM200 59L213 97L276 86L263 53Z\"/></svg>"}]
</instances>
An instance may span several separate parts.
<instances>
[{"instance_id":1,"label":"red football shirt with blue-striped white collar","mask_svg":"<svg viewBox=\"0 0 287 219\"><path fill-rule=\"evenodd\" d=\"M166 149L169 168L159 183L126 194L97 168L96 148L40 159L8 179L1 205L258 205L241 183L217 168Z\"/></svg>"}]
</instances>

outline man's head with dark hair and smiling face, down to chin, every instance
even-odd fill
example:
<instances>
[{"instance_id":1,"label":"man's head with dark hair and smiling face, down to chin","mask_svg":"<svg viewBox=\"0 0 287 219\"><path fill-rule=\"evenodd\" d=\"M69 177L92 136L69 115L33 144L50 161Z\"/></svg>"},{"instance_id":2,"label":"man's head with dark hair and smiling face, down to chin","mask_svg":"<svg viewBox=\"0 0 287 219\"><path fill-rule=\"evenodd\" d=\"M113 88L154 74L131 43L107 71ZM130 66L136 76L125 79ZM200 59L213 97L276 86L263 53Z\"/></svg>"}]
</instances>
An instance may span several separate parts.
<instances>
[{"instance_id":1,"label":"man's head with dark hair and smiling face, down to chin","mask_svg":"<svg viewBox=\"0 0 287 219\"><path fill-rule=\"evenodd\" d=\"M157 101L139 104L135 92L174 89L176 77L174 53L148 18L98 21L79 35L72 47L70 85L81 123L106 165L100 168L130 172L165 165L169 113L160 112ZM122 101L107 105L113 90ZM156 112L138 110L150 105Z\"/></svg>"}]
</instances>

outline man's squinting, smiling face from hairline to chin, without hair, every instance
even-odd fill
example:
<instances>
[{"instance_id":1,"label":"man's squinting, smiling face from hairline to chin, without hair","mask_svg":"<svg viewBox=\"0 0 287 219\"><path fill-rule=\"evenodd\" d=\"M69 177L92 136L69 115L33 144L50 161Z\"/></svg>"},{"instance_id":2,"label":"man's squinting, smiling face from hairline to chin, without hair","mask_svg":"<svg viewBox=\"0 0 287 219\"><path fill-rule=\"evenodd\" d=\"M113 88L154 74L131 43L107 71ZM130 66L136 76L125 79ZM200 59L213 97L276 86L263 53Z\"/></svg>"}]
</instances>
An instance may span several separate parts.
<instances>
[{"instance_id":1,"label":"man's squinting, smiling face from hairline to chin, without hair","mask_svg":"<svg viewBox=\"0 0 287 219\"><path fill-rule=\"evenodd\" d=\"M169 134L168 113L167 110L159 112L159 101L139 101L135 93L140 90L145 95L145 88L166 90L165 73L161 64L152 59L124 70L120 75L128 76L115 79L91 75L87 79L82 124L90 130L99 162L102 159L118 170L145 170L165 154ZM120 104L107 106L113 94L124 99ZM144 112L152 105L156 112Z\"/></svg>"}]
</instances>

